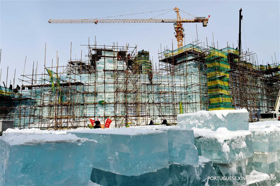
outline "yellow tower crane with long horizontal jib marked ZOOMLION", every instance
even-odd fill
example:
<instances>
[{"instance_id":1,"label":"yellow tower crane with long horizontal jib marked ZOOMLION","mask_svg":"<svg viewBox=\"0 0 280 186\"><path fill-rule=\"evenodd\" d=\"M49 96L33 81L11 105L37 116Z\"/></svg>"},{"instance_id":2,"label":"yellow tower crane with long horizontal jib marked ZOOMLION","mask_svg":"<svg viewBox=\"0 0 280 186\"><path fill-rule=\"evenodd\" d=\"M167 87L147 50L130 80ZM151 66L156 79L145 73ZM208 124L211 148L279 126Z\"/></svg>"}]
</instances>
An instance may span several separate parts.
<instances>
[{"instance_id":1,"label":"yellow tower crane with long horizontal jib marked ZOOMLION","mask_svg":"<svg viewBox=\"0 0 280 186\"><path fill-rule=\"evenodd\" d=\"M185 19L181 18L179 8L175 7L173 10L177 13L177 19L50 19L49 23L174 23L178 48L181 48L183 46L183 38L185 37L183 23L202 23L203 26L207 26L210 16L193 16L191 19Z\"/></svg>"}]
</instances>

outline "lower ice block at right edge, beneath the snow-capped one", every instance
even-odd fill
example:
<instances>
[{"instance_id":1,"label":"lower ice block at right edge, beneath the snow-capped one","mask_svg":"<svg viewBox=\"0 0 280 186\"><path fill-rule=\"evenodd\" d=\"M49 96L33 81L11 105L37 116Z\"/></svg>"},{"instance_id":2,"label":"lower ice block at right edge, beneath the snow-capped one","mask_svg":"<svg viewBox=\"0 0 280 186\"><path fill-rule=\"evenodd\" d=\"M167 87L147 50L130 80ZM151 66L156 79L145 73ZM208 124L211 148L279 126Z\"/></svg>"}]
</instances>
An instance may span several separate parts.
<instances>
[{"instance_id":1,"label":"lower ice block at right edge, beneath the snow-capped one","mask_svg":"<svg viewBox=\"0 0 280 186\"><path fill-rule=\"evenodd\" d=\"M280 170L280 151L255 152L254 170L266 174L275 173Z\"/></svg>"}]
</instances>

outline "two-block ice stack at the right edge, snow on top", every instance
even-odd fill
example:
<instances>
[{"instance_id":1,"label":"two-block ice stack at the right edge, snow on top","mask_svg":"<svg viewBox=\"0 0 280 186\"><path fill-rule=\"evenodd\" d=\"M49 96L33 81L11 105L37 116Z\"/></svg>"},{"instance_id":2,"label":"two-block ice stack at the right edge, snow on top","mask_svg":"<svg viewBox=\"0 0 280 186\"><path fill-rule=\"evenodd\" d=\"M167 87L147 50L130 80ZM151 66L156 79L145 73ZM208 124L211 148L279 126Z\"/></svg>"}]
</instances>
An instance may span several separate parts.
<instances>
[{"instance_id":1,"label":"two-block ice stack at the right edge, snow on top","mask_svg":"<svg viewBox=\"0 0 280 186\"><path fill-rule=\"evenodd\" d=\"M254 170L274 175L280 180L280 122L249 124L254 149Z\"/></svg>"}]
</instances>

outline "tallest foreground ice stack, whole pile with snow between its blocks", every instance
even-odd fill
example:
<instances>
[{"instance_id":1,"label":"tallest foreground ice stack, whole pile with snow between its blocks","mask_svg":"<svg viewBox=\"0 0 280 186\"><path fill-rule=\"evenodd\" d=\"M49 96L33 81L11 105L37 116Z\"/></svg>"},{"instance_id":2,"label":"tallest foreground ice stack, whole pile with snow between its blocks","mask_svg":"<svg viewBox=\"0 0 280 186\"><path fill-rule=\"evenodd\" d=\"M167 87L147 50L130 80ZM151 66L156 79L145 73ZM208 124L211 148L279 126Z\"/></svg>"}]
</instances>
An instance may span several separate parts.
<instances>
[{"instance_id":1,"label":"tallest foreground ice stack, whole pile with snow between its blocks","mask_svg":"<svg viewBox=\"0 0 280 186\"><path fill-rule=\"evenodd\" d=\"M252 171L254 151L246 109L198 111L179 114L177 119L179 127L193 129L198 155L213 162L217 176L245 176Z\"/></svg>"}]
</instances>

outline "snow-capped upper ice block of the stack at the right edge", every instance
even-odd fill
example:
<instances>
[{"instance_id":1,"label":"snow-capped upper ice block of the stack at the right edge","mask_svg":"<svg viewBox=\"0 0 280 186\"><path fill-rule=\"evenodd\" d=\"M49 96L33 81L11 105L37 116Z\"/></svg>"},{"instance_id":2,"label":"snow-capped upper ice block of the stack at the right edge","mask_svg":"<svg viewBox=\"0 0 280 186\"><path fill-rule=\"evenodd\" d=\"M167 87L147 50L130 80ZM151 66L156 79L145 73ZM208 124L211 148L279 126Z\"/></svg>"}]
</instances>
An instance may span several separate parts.
<instances>
[{"instance_id":1,"label":"snow-capped upper ice block of the stack at the right edge","mask_svg":"<svg viewBox=\"0 0 280 186\"><path fill-rule=\"evenodd\" d=\"M253 150L259 152L280 151L279 121L259 121L249 124Z\"/></svg>"}]
</instances>

